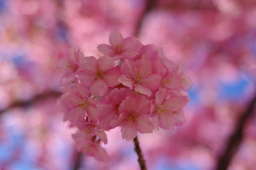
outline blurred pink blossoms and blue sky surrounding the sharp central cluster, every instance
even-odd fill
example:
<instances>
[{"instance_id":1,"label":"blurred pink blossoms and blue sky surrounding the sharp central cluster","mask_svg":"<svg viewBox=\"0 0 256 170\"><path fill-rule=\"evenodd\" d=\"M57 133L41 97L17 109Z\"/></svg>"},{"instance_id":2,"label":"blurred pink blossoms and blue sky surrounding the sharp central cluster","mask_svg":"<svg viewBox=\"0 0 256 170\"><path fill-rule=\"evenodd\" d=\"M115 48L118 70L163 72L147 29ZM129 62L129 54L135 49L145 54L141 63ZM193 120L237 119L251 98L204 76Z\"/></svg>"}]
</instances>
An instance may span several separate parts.
<instances>
[{"instance_id":1,"label":"blurred pink blossoms and blue sky surrounding the sharp central cluster","mask_svg":"<svg viewBox=\"0 0 256 170\"><path fill-rule=\"evenodd\" d=\"M255 0L0 0L1 170L139 169L118 128L108 164L77 153L56 105L58 55L99 57L113 29L163 47L193 82L184 126L139 135L148 169L256 169Z\"/></svg>"}]
</instances>

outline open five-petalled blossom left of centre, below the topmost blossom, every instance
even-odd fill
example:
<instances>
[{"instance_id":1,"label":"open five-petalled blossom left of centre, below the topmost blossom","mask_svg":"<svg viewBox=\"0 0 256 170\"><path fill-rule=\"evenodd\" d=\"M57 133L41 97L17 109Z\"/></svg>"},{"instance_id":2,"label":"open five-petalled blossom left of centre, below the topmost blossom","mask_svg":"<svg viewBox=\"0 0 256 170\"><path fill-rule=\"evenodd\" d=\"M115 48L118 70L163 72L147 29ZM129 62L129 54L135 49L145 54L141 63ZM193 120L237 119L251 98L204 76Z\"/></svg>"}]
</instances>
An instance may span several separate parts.
<instances>
[{"instance_id":1,"label":"open five-petalled blossom left of centre, below the topmost blossom","mask_svg":"<svg viewBox=\"0 0 256 170\"><path fill-rule=\"evenodd\" d=\"M114 87L120 84L118 77L120 76L120 67L115 66L113 59L109 57L101 57L99 59L86 57L82 63L82 71L78 73L79 81L90 87L93 95L102 97L108 87Z\"/></svg>"}]
</instances>

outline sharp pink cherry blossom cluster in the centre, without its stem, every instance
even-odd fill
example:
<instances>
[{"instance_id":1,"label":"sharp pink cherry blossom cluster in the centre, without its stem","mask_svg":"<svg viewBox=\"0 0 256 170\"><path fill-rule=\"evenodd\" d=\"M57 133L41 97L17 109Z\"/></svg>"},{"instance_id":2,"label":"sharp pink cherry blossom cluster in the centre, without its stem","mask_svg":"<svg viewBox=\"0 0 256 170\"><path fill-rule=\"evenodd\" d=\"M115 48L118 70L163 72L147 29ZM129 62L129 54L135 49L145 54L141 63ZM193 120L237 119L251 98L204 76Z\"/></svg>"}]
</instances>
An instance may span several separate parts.
<instances>
[{"instance_id":1,"label":"sharp pink cherry blossom cluster in the centre, without its stem","mask_svg":"<svg viewBox=\"0 0 256 170\"><path fill-rule=\"evenodd\" d=\"M170 131L184 123L182 107L191 82L179 65L154 45L124 38L119 31L98 50L102 57L84 57L72 47L57 65L65 87L58 104L64 120L78 129L73 135L78 150L108 160L100 145L108 143L106 130L120 127L122 138L130 141L138 132Z\"/></svg>"}]
</instances>

